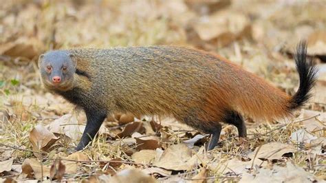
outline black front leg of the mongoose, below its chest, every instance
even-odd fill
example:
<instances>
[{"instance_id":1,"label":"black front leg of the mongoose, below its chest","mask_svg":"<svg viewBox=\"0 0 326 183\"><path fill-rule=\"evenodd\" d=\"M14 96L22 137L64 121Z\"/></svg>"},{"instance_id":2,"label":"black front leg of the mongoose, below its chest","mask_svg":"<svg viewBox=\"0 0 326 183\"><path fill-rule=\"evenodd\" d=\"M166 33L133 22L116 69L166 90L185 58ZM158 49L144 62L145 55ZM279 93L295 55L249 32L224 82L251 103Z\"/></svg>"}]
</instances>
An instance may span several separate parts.
<instances>
[{"instance_id":1,"label":"black front leg of the mongoose, below its chest","mask_svg":"<svg viewBox=\"0 0 326 183\"><path fill-rule=\"evenodd\" d=\"M102 122L107 117L107 114L100 111L95 110L85 110L87 123L85 127L85 131L83 133L83 136L76 147L76 151L80 151L84 149L87 144L94 139L96 133L98 133L98 130L100 129L100 125L102 125Z\"/></svg>"}]
</instances>

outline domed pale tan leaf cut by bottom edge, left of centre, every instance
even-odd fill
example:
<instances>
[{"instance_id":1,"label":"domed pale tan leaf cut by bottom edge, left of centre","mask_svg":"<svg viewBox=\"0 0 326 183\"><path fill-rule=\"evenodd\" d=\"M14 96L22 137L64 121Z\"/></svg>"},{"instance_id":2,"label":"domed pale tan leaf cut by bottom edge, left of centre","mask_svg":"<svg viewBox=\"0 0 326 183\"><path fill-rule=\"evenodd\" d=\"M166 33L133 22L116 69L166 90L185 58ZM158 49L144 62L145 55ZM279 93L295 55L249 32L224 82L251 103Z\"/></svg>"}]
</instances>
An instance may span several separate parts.
<instances>
[{"instance_id":1,"label":"domed pale tan leaf cut by bottom edge, left of centre","mask_svg":"<svg viewBox=\"0 0 326 183\"><path fill-rule=\"evenodd\" d=\"M116 175L113 175L109 182L112 183L138 183L138 182L157 182L153 177L150 175L147 175L145 173L142 173L142 171L138 169L124 169L122 171L119 171L116 173Z\"/></svg>"}]
</instances>

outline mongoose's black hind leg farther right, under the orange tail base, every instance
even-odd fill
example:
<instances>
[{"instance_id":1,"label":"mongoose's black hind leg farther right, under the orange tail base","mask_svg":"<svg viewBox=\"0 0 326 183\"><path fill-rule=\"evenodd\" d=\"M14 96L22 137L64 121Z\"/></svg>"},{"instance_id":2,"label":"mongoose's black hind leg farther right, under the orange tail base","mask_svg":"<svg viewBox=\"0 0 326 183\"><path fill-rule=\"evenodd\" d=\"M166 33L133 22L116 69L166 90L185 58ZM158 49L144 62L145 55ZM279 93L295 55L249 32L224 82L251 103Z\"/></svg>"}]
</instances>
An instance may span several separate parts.
<instances>
[{"instance_id":1,"label":"mongoose's black hind leg farther right, under the orange tail base","mask_svg":"<svg viewBox=\"0 0 326 183\"><path fill-rule=\"evenodd\" d=\"M237 111L228 111L224 118L224 122L231 125L235 125L235 127L237 127L238 129L239 137L241 138L247 137L247 128L245 122L241 114L239 114Z\"/></svg>"}]
</instances>

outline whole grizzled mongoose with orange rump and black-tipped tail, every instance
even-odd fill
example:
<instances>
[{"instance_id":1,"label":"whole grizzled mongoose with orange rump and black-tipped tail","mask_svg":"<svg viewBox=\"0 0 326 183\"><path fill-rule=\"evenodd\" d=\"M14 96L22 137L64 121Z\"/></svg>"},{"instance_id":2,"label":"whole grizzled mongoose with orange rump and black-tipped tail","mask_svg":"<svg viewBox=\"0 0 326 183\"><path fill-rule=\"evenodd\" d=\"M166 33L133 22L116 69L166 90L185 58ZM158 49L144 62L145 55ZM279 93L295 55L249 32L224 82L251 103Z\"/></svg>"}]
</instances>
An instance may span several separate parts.
<instances>
[{"instance_id":1,"label":"whole grizzled mongoose with orange rump and black-tipped tail","mask_svg":"<svg viewBox=\"0 0 326 183\"><path fill-rule=\"evenodd\" d=\"M78 151L115 112L172 116L209 133L210 150L219 140L220 122L235 125L245 138L242 114L273 120L307 102L316 67L306 61L304 41L296 51L300 84L294 96L226 58L184 47L54 50L39 57L39 67L46 89L85 110L87 125Z\"/></svg>"}]
</instances>

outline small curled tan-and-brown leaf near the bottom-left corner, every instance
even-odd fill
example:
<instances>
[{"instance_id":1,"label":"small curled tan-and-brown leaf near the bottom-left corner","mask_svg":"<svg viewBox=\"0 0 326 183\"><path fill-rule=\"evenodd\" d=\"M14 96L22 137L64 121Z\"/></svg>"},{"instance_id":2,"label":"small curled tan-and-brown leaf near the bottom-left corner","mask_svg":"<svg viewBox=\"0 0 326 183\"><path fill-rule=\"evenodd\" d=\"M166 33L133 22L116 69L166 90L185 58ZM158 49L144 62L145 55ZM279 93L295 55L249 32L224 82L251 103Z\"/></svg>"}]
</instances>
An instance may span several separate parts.
<instances>
[{"instance_id":1,"label":"small curled tan-and-brown leaf near the bottom-left corner","mask_svg":"<svg viewBox=\"0 0 326 183\"><path fill-rule=\"evenodd\" d=\"M28 174L28 177L32 177L32 174L34 173L34 177L37 180L42 179L42 173L43 177L50 176L50 167L45 165L41 166L39 161L34 158L25 159L23 164L21 165L21 169L23 173Z\"/></svg>"}]
</instances>

